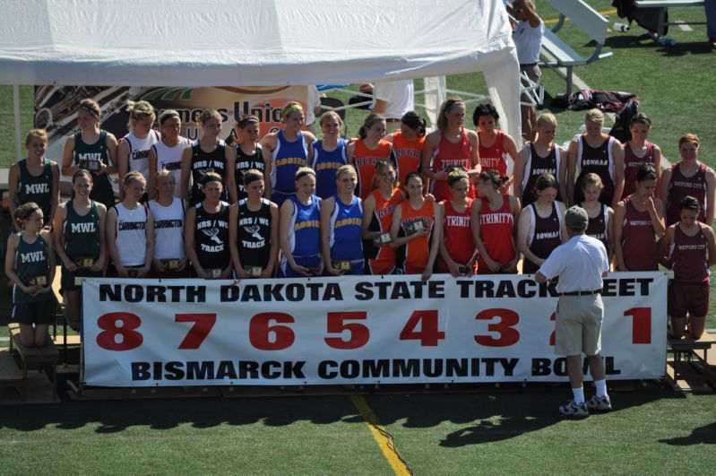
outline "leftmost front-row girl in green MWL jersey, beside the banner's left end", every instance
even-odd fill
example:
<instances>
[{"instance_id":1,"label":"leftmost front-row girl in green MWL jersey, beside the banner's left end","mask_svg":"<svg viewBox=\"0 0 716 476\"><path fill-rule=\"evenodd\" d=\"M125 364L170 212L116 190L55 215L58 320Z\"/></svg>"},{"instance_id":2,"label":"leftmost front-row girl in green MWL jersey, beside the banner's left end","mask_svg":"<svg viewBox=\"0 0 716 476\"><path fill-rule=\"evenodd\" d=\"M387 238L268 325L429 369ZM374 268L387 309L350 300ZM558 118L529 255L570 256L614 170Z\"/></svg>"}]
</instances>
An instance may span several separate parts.
<instances>
[{"instance_id":1,"label":"leftmost front-row girl in green MWL jersey, beside the banner's left end","mask_svg":"<svg viewBox=\"0 0 716 476\"><path fill-rule=\"evenodd\" d=\"M18 233L7 238L5 274L13 281L13 322L20 324L23 345L43 347L47 325L55 319L55 253L52 235L43 229L39 204L28 202L15 209Z\"/></svg>"}]
</instances>

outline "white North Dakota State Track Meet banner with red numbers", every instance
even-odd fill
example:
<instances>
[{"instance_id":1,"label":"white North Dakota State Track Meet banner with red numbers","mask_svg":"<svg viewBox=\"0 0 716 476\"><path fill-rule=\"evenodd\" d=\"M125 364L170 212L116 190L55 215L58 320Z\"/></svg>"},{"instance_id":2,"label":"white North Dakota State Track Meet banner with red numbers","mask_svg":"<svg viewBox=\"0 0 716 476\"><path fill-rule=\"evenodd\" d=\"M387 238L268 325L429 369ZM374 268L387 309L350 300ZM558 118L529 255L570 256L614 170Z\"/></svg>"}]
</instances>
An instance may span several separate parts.
<instances>
[{"instance_id":1,"label":"white North Dakota State Track Meet banner with red numbers","mask_svg":"<svg viewBox=\"0 0 716 476\"><path fill-rule=\"evenodd\" d=\"M611 273L608 379L666 368L666 273ZM554 285L528 276L87 279L87 385L335 385L566 380ZM586 366L585 366L586 368Z\"/></svg>"}]
</instances>

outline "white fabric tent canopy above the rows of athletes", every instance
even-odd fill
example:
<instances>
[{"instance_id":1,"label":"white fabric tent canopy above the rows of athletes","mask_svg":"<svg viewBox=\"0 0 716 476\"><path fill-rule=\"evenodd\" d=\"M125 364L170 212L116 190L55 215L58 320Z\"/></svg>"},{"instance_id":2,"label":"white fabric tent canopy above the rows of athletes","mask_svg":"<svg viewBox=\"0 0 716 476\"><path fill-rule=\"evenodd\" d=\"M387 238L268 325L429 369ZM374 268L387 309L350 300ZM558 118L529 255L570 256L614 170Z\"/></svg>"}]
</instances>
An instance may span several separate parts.
<instances>
[{"instance_id":1,"label":"white fabric tent canopy above the rows of athletes","mask_svg":"<svg viewBox=\"0 0 716 476\"><path fill-rule=\"evenodd\" d=\"M502 127L519 137L502 0L4 0L3 16L0 84L278 86L481 71Z\"/></svg>"}]
</instances>

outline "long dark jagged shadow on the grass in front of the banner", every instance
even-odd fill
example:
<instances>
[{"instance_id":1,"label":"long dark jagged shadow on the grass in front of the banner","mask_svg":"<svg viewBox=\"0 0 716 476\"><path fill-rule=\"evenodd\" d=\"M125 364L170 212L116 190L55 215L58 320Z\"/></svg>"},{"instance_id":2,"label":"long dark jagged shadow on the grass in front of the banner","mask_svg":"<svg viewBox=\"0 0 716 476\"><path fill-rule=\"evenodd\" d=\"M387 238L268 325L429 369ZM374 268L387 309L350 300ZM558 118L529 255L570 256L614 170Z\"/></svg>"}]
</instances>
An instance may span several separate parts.
<instances>
[{"instance_id":1,"label":"long dark jagged shadow on the grass in front of the banner","mask_svg":"<svg viewBox=\"0 0 716 476\"><path fill-rule=\"evenodd\" d=\"M674 397L665 391L617 395L618 409ZM409 428L431 428L444 422L465 424L465 428L448 435L441 443L465 446L516 437L555 424L561 420L556 414L556 405L565 400L565 392L504 393L496 397L468 393L375 394L367 399L384 425L401 422ZM89 427L97 433L112 434L133 427L162 430L185 425L212 428L256 423L284 427L301 422L362 424L363 419L348 395L63 402L0 407L0 428L19 431Z\"/></svg>"}]
</instances>

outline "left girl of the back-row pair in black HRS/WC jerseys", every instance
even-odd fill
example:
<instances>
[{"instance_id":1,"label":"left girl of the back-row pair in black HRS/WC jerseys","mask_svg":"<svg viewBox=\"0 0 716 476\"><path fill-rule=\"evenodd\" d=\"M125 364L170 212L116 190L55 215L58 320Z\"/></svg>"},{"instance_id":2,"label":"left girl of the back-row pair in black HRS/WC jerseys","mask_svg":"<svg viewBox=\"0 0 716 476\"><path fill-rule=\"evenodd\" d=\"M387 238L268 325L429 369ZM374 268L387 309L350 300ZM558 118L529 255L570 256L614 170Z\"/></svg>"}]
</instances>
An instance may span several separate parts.
<instances>
[{"instance_id":1,"label":"left girl of the back-row pair in black HRS/WC jerseys","mask_svg":"<svg viewBox=\"0 0 716 476\"><path fill-rule=\"evenodd\" d=\"M203 177L208 173L215 173L221 177L220 200L224 202L230 200L234 203L237 201L237 187L234 184L236 149L227 147L219 138L221 132L219 112L214 109L204 109L198 120L202 125L203 135L182 153L182 197L188 200L191 206L202 202ZM191 190L189 190L190 175L193 182Z\"/></svg>"}]
</instances>

